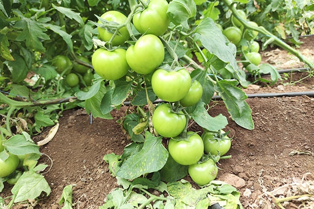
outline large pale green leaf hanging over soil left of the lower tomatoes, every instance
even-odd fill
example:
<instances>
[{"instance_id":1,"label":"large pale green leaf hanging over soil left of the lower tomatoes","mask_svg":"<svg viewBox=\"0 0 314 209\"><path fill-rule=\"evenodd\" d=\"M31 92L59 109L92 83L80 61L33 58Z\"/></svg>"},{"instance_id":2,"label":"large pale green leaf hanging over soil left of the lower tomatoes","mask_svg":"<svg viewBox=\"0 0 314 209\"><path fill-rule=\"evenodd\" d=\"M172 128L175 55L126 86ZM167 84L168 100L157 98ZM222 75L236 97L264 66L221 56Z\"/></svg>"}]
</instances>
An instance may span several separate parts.
<instances>
[{"instance_id":1,"label":"large pale green leaf hanging over soil left of the lower tomatoes","mask_svg":"<svg viewBox=\"0 0 314 209\"><path fill-rule=\"evenodd\" d=\"M144 146L138 153L130 156L116 175L125 179L135 179L141 175L159 171L165 165L168 151L162 144L162 137L145 133Z\"/></svg>"}]
</instances>

